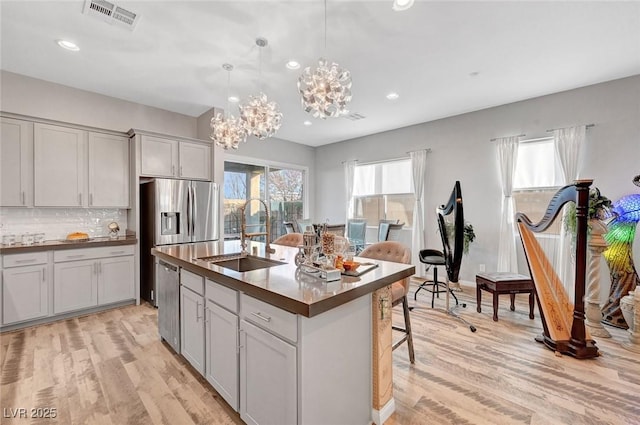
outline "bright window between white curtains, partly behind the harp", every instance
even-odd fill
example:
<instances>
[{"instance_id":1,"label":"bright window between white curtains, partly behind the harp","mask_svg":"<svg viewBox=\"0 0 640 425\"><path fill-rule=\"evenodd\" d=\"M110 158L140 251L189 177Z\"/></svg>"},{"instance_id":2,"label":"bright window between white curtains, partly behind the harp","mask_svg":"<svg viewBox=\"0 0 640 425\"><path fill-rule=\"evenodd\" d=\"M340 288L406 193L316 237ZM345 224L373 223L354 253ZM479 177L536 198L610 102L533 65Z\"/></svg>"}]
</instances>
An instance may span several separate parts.
<instances>
[{"instance_id":1,"label":"bright window between white curtains, partly behind the harp","mask_svg":"<svg viewBox=\"0 0 640 425\"><path fill-rule=\"evenodd\" d=\"M534 223L540 221L558 189L564 186L562 167L556 158L553 138L523 140L518 146L513 199L517 212ZM546 234L558 235L562 220L556 219Z\"/></svg>"}]
</instances>

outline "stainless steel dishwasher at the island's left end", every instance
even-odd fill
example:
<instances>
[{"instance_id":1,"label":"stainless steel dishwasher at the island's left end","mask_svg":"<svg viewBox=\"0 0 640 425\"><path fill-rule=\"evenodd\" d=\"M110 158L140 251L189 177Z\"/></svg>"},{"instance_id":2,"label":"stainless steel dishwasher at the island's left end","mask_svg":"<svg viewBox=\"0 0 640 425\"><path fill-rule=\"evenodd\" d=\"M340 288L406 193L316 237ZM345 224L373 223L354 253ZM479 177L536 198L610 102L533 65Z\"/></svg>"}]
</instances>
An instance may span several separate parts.
<instances>
[{"instance_id":1,"label":"stainless steel dishwasher at the island's left end","mask_svg":"<svg viewBox=\"0 0 640 425\"><path fill-rule=\"evenodd\" d=\"M180 278L178 267L156 261L158 331L160 338L180 352Z\"/></svg>"}]
</instances>

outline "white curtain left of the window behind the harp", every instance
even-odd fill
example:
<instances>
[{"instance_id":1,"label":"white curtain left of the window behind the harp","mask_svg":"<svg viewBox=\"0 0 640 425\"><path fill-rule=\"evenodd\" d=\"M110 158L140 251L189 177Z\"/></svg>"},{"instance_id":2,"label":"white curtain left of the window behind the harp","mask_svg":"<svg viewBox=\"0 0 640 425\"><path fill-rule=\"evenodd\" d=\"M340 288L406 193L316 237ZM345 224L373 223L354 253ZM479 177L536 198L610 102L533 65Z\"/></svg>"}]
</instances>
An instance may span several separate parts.
<instances>
[{"instance_id":1,"label":"white curtain left of the window behind the harp","mask_svg":"<svg viewBox=\"0 0 640 425\"><path fill-rule=\"evenodd\" d=\"M516 255L516 234L513 223L515 212L513 197L513 175L518 160L519 136L496 139L500 183L502 185L502 218L500 221L500 240L498 243L499 272L518 272Z\"/></svg>"}]
</instances>

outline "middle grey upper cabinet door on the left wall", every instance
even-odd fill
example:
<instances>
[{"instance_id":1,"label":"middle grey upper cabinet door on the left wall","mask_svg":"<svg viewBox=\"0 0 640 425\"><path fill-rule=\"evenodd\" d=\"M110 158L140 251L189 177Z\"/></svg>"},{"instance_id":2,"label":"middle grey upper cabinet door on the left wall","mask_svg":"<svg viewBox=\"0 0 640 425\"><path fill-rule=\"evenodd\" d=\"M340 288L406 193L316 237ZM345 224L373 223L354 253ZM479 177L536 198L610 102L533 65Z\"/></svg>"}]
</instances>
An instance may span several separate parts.
<instances>
[{"instance_id":1,"label":"middle grey upper cabinet door on the left wall","mask_svg":"<svg viewBox=\"0 0 640 425\"><path fill-rule=\"evenodd\" d=\"M34 124L34 175L37 207L86 205L86 132Z\"/></svg>"}]
</instances>

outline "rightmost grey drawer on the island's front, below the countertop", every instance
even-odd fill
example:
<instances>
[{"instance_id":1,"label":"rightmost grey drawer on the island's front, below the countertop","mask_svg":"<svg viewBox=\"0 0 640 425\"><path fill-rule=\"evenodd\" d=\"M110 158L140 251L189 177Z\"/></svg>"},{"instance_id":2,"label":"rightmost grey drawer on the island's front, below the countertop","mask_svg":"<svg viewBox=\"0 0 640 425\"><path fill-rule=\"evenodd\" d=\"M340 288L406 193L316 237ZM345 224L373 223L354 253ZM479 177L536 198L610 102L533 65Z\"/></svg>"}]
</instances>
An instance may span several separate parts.
<instances>
[{"instance_id":1,"label":"rightmost grey drawer on the island's front, below the countertop","mask_svg":"<svg viewBox=\"0 0 640 425\"><path fill-rule=\"evenodd\" d=\"M242 318L291 342L298 340L298 318L295 314L274 307L245 294L240 296Z\"/></svg>"}]
</instances>

